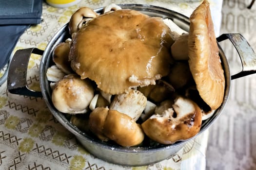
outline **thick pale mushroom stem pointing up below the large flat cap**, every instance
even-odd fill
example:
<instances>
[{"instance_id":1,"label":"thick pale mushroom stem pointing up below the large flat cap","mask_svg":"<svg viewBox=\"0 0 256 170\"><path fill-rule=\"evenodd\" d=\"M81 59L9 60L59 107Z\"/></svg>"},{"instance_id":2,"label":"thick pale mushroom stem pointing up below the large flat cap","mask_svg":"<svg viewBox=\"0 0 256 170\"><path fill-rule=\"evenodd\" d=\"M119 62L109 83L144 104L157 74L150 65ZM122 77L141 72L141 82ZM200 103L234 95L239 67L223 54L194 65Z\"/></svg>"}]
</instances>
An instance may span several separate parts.
<instances>
[{"instance_id":1,"label":"thick pale mushroom stem pointing up below the large flat cap","mask_svg":"<svg viewBox=\"0 0 256 170\"><path fill-rule=\"evenodd\" d=\"M141 92L129 89L123 94L116 95L109 109L117 110L136 121L145 109L146 103L147 98Z\"/></svg>"}]
</instances>

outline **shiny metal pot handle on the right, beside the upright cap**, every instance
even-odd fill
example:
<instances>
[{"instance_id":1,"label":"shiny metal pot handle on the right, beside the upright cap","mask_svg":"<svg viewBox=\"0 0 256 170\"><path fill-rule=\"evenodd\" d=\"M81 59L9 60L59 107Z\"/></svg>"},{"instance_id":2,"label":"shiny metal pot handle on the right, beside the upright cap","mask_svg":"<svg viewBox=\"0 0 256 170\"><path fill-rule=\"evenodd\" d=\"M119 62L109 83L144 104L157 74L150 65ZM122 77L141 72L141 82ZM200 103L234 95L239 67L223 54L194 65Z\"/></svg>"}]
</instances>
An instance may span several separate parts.
<instances>
[{"instance_id":1,"label":"shiny metal pot handle on the right, beside the upright cap","mask_svg":"<svg viewBox=\"0 0 256 170\"><path fill-rule=\"evenodd\" d=\"M217 41L229 39L241 59L242 71L232 75L231 80L256 73L256 54L247 40L241 34L222 34Z\"/></svg>"}]
</instances>

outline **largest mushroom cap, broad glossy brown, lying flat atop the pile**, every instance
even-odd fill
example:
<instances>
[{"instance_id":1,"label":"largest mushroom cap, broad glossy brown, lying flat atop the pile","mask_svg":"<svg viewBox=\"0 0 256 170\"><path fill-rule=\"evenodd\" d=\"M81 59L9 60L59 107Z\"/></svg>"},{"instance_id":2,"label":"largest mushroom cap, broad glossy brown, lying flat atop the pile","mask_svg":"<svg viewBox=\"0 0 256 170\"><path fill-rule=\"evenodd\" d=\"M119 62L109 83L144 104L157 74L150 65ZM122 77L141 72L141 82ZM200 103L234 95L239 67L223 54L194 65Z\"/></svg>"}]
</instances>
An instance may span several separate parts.
<instances>
[{"instance_id":1,"label":"largest mushroom cap, broad glossy brown, lying flat atop the pile","mask_svg":"<svg viewBox=\"0 0 256 170\"><path fill-rule=\"evenodd\" d=\"M117 10L88 21L72 38L71 67L105 93L155 84L171 62L171 31L162 18Z\"/></svg>"}]
</instances>

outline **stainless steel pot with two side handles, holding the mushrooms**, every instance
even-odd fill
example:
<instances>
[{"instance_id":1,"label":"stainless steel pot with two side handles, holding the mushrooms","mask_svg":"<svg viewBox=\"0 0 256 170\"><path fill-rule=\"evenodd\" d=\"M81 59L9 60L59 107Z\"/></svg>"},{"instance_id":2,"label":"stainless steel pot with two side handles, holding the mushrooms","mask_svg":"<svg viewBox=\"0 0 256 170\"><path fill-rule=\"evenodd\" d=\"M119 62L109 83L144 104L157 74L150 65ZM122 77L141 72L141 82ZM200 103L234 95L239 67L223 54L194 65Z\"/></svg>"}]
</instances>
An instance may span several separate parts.
<instances>
[{"instance_id":1,"label":"stainless steel pot with two side handles, holding the mushrooms","mask_svg":"<svg viewBox=\"0 0 256 170\"><path fill-rule=\"evenodd\" d=\"M141 5L141 4L120 4L122 8L129 8L133 10L138 10L149 16L157 16L163 18L171 18L177 25L183 28L186 31L189 31L189 18L179 14L175 11L168 10L165 8L151 6L151 5ZM103 8L98 8L95 11L101 13ZM173 156L177 151L179 151L188 141L200 135L206 129L208 129L214 121L220 116L223 111L230 92L231 79L235 79L241 76L246 76L249 74L256 73L256 55L253 49L250 47L248 42L243 38L241 34L222 34L217 38L217 41L222 41L229 39L235 46L243 65L243 70L231 76L229 70L229 64L227 58L219 46L219 55L222 61L222 66L224 69L226 86L223 103L215 111L214 115L202 122L200 132L184 141L176 142L172 145L159 145L155 147L130 147L125 148L118 146L116 144L110 144L102 142L97 138L90 136L82 131L80 131L76 126L72 125L64 114L60 113L53 105L51 100L52 90L50 88L49 82L46 78L46 71L51 65L52 53L54 48L60 42L65 41L67 38L70 38L68 31L68 24L64 25L50 40L45 51L40 51L36 48L25 49L17 51L13 57L13 60L10 64L9 74L7 79L7 89L10 93L43 97L48 108L55 116L56 119L71 133L73 133L81 144L93 155L97 156L100 159L106 160L111 163L127 165L127 166L142 166L152 163L159 162L170 156ZM39 83L41 92L35 92L27 88L26 85L26 71L27 64L31 53L36 53L42 55L40 68L39 68Z\"/></svg>"}]
</instances>

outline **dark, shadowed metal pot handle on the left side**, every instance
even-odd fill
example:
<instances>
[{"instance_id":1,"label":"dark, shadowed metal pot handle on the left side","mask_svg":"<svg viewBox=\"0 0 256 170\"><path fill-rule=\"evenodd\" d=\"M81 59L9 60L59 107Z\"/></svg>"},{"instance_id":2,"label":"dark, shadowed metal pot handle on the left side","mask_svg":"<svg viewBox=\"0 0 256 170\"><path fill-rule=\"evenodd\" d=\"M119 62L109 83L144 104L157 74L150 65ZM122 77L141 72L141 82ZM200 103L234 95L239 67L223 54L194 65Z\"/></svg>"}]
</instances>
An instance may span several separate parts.
<instances>
[{"instance_id":1,"label":"dark, shadowed metal pot handle on the left side","mask_svg":"<svg viewBox=\"0 0 256 170\"><path fill-rule=\"evenodd\" d=\"M7 76L7 90L13 94L42 97L40 91L34 91L27 86L27 68L31 54L42 55L43 51L37 48L22 49L15 52L9 66Z\"/></svg>"}]
</instances>

